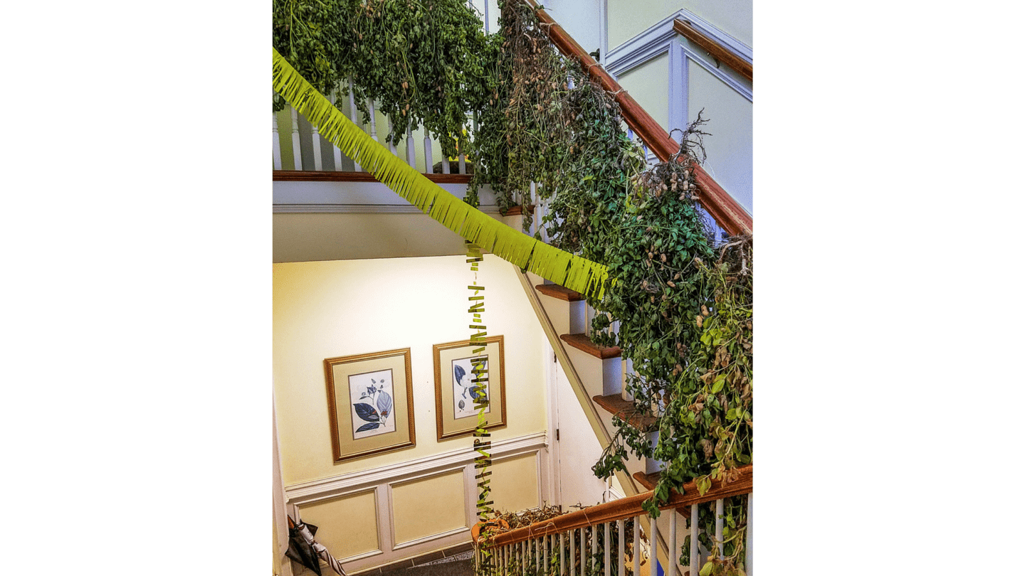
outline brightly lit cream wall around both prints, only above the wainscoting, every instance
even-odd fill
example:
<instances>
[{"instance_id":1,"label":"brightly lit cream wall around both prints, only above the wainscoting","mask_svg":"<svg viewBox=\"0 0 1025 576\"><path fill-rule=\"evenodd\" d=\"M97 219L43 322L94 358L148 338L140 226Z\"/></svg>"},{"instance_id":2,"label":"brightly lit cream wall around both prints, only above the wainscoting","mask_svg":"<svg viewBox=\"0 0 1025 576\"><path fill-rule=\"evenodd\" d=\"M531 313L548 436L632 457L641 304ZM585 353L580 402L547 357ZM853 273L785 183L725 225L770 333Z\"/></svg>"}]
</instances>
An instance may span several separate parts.
<instances>
[{"instance_id":1,"label":"brightly lit cream wall around both prints, only above the wainscoting","mask_svg":"<svg viewBox=\"0 0 1025 576\"><path fill-rule=\"evenodd\" d=\"M286 486L471 444L468 438L436 440L432 346L469 337L466 286L473 280L464 256L273 265L273 358ZM492 441L543 430L542 332L533 310L512 264L486 255L479 282L487 289L488 334L505 336L508 426L494 430ZM411 348L416 447L334 463L324 359L401 347Z\"/></svg>"}]
</instances>

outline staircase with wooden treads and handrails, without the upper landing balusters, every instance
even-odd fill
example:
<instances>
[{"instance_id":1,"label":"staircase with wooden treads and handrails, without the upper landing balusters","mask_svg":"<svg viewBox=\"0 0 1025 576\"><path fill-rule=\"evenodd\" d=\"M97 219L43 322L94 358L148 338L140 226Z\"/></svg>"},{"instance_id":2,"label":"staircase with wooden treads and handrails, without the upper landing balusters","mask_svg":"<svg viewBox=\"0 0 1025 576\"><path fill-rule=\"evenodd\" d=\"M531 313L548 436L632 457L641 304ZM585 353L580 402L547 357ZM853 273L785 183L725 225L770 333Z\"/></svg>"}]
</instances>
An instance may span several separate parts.
<instances>
[{"instance_id":1,"label":"staircase with wooden treads and handrails, without the upper landing balusters","mask_svg":"<svg viewBox=\"0 0 1025 576\"><path fill-rule=\"evenodd\" d=\"M536 7L531 0L525 1ZM564 55L578 59L586 70L590 71L594 80L616 94L623 119L630 127L630 137L642 143L646 151L653 151L660 160L669 160L679 147L675 140L670 138L668 133L622 90L608 73L596 66L594 59L543 9L538 9L537 13L539 22L544 25L549 38L560 51ZM721 47L719 49L722 50ZM698 184L702 193L701 203L717 229L731 235L753 232L753 218L703 170L698 173ZM529 200L536 205L534 214L536 222L540 220L545 207L543 202L535 201L533 195ZM527 200L524 201L524 204L526 203ZM517 225L518 222L508 223ZM630 363L621 358L619 347L603 346L591 340L588 330L594 311L586 303L583 296L527 272L521 272L521 282L602 445L608 446L614 436L614 416L619 416L641 429L649 429L655 421L654 418L633 413L633 399L624 386L626 376L631 371ZM615 329L615 325L612 328ZM653 445L657 442L657 434L655 431L649 435L649 441ZM752 576L753 467L748 465L742 468L741 480L738 482L729 485L713 482L712 489L703 496L697 495L698 491L693 483L686 485L686 496L674 493L669 504L663 508L667 513L655 520L642 511L641 502L651 497L650 491L658 482L661 464L652 458L645 458L644 461L627 460L629 476L617 472L620 485L629 493L627 498L500 534L490 544L490 548L484 547L492 550L490 553L493 556L479 557L478 562L490 563L495 570L494 573L503 576L512 574L624 576L627 571L638 576L642 573L641 562L644 556L641 548L646 547L645 542L657 542L658 546L655 548L657 562L648 563L651 576L657 576L659 572L674 575L678 571L681 574L697 576L699 569L708 559L716 556L721 558L723 553L722 543L719 544L717 550L712 551L698 543L698 504L715 502L715 539L722 542L724 498L748 494L746 553L743 567L746 576ZM691 554L686 569L678 565L681 546L678 524L681 518L683 526L690 529ZM627 530L628 525L631 533ZM630 550L629 556L626 554L627 549ZM652 556L650 548L647 553L649 557ZM628 561L632 561L632 570L627 568Z\"/></svg>"}]
</instances>

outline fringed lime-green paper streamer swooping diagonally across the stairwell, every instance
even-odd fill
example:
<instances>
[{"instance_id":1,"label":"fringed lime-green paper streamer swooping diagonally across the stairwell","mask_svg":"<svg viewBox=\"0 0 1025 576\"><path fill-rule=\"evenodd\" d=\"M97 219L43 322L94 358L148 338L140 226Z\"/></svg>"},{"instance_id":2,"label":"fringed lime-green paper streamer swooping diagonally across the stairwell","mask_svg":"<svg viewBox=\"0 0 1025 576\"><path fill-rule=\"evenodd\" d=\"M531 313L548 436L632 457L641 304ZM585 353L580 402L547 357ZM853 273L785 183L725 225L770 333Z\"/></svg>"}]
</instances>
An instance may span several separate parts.
<instances>
[{"instance_id":1,"label":"fringed lime-green paper streamer swooping diagonally across the stairwell","mask_svg":"<svg viewBox=\"0 0 1025 576\"><path fill-rule=\"evenodd\" d=\"M445 228L551 282L599 299L604 295L607 266L512 230L430 181L354 124L273 47L271 76L275 91L325 139Z\"/></svg>"}]
</instances>

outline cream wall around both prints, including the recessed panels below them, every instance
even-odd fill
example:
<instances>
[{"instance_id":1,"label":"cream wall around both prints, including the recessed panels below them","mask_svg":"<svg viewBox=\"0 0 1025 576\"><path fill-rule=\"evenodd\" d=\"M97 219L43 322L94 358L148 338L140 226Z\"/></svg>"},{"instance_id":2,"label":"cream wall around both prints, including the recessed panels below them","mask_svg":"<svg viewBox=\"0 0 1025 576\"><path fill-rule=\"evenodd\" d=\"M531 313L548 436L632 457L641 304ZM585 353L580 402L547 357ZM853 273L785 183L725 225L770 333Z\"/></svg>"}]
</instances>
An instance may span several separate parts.
<instances>
[{"instance_id":1,"label":"cream wall around both prints, including the recessed panels below them","mask_svg":"<svg viewBox=\"0 0 1025 576\"><path fill-rule=\"evenodd\" d=\"M473 446L471 437L437 441L432 347L469 337L466 286L473 281L465 255L273 264L274 396L286 490ZM491 430L491 440L543 433L547 417L543 333L517 271L489 254L481 263L478 282L486 289L483 321L488 334L501 334L505 340L508 425ZM416 446L335 463L324 359L401 347L411 348ZM497 501L515 509L541 503L536 460L531 453L495 463L492 478L500 479ZM382 552L360 561L359 568L386 564L429 551L423 547L429 542L399 549L404 542L444 534L448 539L439 540L439 547L451 545L452 538L468 540L466 533L452 536L453 529L467 527L466 519L473 515L469 502L476 501L476 486L462 475L459 468L392 484L391 492L363 491L311 501L299 505L300 513L320 527L318 537L323 535L323 543L336 557L380 546ZM383 528L393 535L392 548L397 549L379 538L376 518L387 519L382 522L391 526Z\"/></svg>"}]
</instances>

